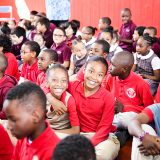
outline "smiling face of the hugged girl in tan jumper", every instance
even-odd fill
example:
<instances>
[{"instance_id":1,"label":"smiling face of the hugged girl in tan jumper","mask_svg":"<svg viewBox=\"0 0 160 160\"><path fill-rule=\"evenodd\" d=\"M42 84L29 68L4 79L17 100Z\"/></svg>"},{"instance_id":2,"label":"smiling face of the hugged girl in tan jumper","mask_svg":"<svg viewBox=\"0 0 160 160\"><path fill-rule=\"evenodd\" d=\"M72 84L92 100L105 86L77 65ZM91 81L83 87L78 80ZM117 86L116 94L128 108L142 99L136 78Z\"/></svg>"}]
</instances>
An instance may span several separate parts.
<instances>
[{"instance_id":1,"label":"smiling face of the hugged girl in tan jumper","mask_svg":"<svg viewBox=\"0 0 160 160\"><path fill-rule=\"evenodd\" d=\"M50 71L46 86L50 88L55 98L61 100L62 93L68 88L68 75L61 68Z\"/></svg>"}]
</instances>

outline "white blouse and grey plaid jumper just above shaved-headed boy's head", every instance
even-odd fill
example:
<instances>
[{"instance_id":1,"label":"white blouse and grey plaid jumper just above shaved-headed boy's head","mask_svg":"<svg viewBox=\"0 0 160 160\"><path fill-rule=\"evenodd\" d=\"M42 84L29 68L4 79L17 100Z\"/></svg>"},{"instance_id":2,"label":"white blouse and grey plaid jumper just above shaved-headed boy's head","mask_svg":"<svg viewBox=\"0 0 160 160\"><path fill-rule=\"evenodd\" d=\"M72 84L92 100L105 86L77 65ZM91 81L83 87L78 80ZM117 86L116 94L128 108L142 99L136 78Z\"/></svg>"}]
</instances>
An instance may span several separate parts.
<instances>
[{"instance_id":1,"label":"white blouse and grey plaid jumper just above shaved-headed boy's head","mask_svg":"<svg viewBox=\"0 0 160 160\"><path fill-rule=\"evenodd\" d=\"M109 53L107 55L107 60L111 63L111 59L112 57L117 54L118 52L121 52L123 51L123 49L118 46L118 43L115 43L114 45L111 45L110 46L110 49L109 49Z\"/></svg>"}]
</instances>

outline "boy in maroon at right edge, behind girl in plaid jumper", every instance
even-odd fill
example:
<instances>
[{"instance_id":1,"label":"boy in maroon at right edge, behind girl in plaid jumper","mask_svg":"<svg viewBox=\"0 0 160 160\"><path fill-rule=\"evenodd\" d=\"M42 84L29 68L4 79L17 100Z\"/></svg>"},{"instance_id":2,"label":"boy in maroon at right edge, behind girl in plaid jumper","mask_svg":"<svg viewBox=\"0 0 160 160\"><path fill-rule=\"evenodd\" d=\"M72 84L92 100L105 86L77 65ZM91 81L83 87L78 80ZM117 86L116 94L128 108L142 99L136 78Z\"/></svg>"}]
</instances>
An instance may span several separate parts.
<instances>
[{"instance_id":1,"label":"boy in maroon at right edge, behind girl in plaid jumper","mask_svg":"<svg viewBox=\"0 0 160 160\"><path fill-rule=\"evenodd\" d=\"M148 27L144 30L143 34L148 33L149 36L156 39L157 36L157 29L155 27ZM158 39L157 39L158 41ZM158 43L153 43L151 48L154 53L160 58L160 45Z\"/></svg>"}]
</instances>

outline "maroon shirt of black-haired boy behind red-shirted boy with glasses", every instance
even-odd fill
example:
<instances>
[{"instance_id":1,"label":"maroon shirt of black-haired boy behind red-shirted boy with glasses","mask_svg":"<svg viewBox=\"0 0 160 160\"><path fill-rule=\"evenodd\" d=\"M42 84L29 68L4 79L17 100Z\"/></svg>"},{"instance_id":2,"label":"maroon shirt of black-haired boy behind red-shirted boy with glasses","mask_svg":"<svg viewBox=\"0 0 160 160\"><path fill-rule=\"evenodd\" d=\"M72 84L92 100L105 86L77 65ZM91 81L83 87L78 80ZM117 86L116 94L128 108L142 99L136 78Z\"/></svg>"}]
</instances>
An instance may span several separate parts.
<instances>
[{"instance_id":1,"label":"maroon shirt of black-haired boy behind red-shirted boy with glasses","mask_svg":"<svg viewBox=\"0 0 160 160\"><path fill-rule=\"evenodd\" d=\"M16 56L16 59L21 60L20 50L21 50L22 45L27 41L29 40L25 38L20 44L12 46L11 53L13 53Z\"/></svg>"}]
</instances>

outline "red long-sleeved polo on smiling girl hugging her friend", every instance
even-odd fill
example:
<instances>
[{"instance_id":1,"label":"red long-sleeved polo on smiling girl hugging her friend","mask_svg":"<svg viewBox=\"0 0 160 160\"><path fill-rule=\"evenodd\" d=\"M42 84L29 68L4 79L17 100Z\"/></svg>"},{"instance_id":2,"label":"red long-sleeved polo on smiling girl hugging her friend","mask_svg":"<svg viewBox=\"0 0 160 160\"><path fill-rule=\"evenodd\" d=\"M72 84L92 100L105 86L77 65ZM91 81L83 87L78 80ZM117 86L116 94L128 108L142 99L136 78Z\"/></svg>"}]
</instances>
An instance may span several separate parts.
<instances>
[{"instance_id":1,"label":"red long-sleeved polo on smiling girl hugging her friend","mask_svg":"<svg viewBox=\"0 0 160 160\"><path fill-rule=\"evenodd\" d=\"M108 138L114 118L114 97L102 86L93 95L86 97L83 82L69 83L68 91L76 101L81 132L95 132L91 138L94 146Z\"/></svg>"}]
</instances>

